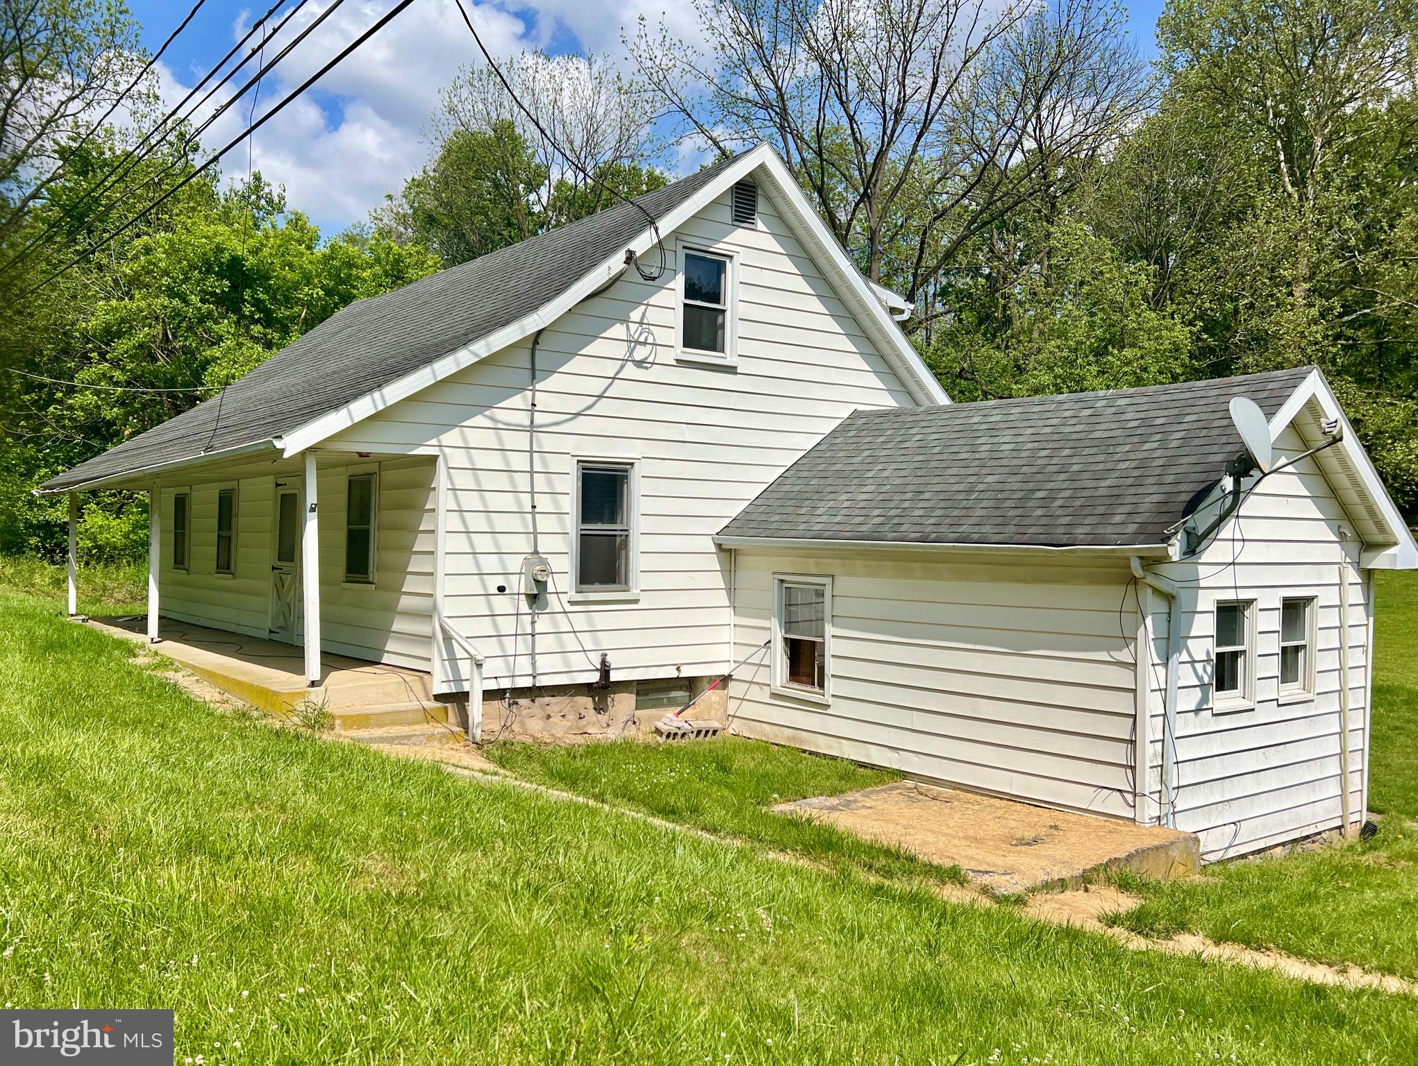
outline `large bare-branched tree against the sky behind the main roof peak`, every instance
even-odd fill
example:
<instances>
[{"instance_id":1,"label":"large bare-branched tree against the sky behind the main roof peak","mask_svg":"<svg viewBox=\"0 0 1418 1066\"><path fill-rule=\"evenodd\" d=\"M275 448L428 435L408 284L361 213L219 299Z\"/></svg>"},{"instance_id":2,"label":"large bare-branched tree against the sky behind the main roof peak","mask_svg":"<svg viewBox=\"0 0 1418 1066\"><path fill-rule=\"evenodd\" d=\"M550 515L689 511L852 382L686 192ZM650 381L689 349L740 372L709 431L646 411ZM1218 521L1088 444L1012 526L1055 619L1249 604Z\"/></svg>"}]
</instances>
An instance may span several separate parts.
<instances>
[{"instance_id":1,"label":"large bare-branched tree against the sky behind the main roof peak","mask_svg":"<svg viewBox=\"0 0 1418 1066\"><path fill-rule=\"evenodd\" d=\"M922 313L977 234L1056 187L1150 98L1122 16L1096 0L695 0L699 50L627 41L681 136L766 140L873 281Z\"/></svg>"}]
</instances>

